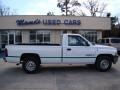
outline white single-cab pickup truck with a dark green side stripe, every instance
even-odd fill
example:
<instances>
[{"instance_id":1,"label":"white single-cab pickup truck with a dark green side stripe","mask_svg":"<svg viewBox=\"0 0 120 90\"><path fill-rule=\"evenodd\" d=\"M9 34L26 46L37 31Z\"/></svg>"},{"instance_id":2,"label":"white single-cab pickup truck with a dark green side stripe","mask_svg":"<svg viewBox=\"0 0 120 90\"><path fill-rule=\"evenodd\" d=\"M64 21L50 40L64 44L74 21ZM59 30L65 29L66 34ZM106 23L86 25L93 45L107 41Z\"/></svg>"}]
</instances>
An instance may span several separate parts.
<instances>
[{"instance_id":1,"label":"white single-cab pickup truck with a dark green side stripe","mask_svg":"<svg viewBox=\"0 0 120 90\"><path fill-rule=\"evenodd\" d=\"M38 72L41 64L90 64L107 71L118 61L116 48L92 44L79 34L63 34L61 45L7 45L5 52L5 61L22 64L27 73Z\"/></svg>"}]
</instances>

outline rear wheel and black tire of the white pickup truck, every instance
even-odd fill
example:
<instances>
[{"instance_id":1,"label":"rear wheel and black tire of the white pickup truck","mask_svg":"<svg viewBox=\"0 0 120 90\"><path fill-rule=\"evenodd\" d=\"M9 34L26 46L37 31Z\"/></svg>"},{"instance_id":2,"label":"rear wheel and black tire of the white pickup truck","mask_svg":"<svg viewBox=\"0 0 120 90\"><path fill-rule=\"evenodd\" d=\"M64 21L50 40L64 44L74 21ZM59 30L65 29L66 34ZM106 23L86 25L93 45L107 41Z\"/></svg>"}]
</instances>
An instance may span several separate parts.
<instances>
[{"instance_id":1,"label":"rear wheel and black tire of the white pickup truck","mask_svg":"<svg viewBox=\"0 0 120 90\"><path fill-rule=\"evenodd\" d=\"M26 73L37 73L40 69L40 63L35 57L25 57L23 58L22 68Z\"/></svg>"}]
</instances>

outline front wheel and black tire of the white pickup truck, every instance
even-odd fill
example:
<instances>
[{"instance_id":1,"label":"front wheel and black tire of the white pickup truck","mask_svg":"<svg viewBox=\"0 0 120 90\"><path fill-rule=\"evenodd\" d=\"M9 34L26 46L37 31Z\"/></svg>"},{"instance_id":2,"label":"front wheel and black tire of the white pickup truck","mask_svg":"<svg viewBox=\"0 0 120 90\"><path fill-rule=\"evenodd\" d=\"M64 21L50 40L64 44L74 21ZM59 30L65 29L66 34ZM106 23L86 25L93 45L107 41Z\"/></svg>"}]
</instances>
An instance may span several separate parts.
<instances>
[{"instance_id":1,"label":"front wheel and black tire of the white pickup truck","mask_svg":"<svg viewBox=\"0 0 120 90\"><path fill-rule=\"evenodd\" d=\"M110 70L111 66L112 66L112 60L108 56L98 57L95 63L96 69L101 72Z\"/></svg>"}]
</instances>

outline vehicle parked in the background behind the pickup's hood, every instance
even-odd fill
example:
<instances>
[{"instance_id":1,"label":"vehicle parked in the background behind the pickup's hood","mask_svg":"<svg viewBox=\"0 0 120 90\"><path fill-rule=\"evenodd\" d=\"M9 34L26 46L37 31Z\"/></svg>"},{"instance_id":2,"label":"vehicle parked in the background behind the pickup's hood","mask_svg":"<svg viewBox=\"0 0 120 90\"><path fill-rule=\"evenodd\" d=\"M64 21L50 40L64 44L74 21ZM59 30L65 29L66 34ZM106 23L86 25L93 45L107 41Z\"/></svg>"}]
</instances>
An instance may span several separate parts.
<instances>
[{"instance_id":1,"label":"vehicle parked in the background behind the pickup's hood","mask_svg":"<svg viewBox=\"0 0 120 90\"><path fill-rule=\"evenodd\" d=\"M117 48L120 53L120 38L102 38L98 40L98 44L108 45Z\"/></svg>"}]
</instances>

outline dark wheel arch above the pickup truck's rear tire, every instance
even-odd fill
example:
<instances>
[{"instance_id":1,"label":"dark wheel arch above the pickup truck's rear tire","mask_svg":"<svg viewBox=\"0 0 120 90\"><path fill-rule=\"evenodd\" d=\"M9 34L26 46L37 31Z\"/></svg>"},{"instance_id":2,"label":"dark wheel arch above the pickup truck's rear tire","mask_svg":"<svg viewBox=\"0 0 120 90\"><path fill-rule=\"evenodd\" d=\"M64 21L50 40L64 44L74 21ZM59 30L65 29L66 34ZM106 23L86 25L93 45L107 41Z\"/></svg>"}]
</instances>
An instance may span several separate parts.
<instances>
[{"instance_id":1,"label":"dark wheel arch above the pickup truck's rear tire","mask_svg":"<svg viewBox=\"0 0 120 90\"><path fill-rule=\"evenodd\" d=\"M30 57L30 56L37 58L38 62L41 64L40 56L36 53L23 53L20 57L20 63L23 62L23 58Z\"/></svg>"}]
</instances>

